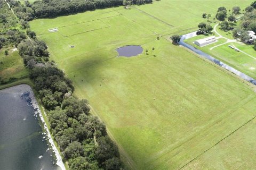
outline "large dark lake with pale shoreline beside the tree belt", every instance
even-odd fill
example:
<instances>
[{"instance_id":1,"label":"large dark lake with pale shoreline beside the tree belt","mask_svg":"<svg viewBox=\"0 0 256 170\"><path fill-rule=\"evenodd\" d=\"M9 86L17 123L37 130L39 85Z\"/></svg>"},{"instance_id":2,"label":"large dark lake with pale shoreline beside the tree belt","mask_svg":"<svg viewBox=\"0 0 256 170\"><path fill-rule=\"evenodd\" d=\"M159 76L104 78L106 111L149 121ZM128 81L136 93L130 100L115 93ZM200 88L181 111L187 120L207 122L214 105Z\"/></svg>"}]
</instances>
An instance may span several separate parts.
<instances>
[{"instance_id":1,"label":"large dark lake with pale shoreline beside the tree belt","mask_svg":"<svg viewBox=\"0 0 256 170\"><path fill-rule=\"evenodd\" d=\"M27 85L0 90L0 169L60 169L53 164L31 93Z\"/></svg>"}]
</instances>

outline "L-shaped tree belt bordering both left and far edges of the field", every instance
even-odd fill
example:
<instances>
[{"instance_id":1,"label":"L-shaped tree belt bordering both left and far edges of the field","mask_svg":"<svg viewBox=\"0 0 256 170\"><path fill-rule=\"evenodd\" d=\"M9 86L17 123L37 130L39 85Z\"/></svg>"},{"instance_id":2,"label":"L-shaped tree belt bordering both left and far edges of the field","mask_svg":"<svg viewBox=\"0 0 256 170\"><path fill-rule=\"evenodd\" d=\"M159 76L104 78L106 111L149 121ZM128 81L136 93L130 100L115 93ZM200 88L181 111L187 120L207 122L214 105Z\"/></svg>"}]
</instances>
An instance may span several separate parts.
<instances>
[{"instance_id":1,"label":"L-shaped tree belt bordering both left and far edges of the field","mask_svg":"<svg viewBox=\"0 0 256 170\"><path fill-rule=\"evenodd\" d=\"M29 68L29 77L46 109L50 130L64 159L68 161L69 168L123 169L118 148L108 137L105 125L98 117L90 114L87 100L79 100L73 95L72 82L55 67L53 61L49 61L47 45L38 40L36 33L29 29L28 21L119 6L123 3L141 5L151 3L152 0L42 0L33 4L25 1L24 5L15 0L7 2L18 16L23 32L15 30L18 23L15 17L13 22L6 22L6 12L1 11L0 23L4 23L6 29L5 32L0 31L0 45L12 41L18 46L19 54ZM0 0L0 10L3 5L6 4Z\"/></svg>"}]
</instances>

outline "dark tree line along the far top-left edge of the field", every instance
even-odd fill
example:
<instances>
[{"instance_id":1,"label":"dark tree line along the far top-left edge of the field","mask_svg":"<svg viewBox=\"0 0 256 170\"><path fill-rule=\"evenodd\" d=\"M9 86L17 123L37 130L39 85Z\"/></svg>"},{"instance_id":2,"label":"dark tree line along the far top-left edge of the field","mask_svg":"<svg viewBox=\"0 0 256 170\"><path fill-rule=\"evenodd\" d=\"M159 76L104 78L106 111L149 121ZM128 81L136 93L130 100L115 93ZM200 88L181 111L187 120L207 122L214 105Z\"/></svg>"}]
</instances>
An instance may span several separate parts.
<instances>
[{"instance_id":1,"label":"dark tree line along the far top-left edge of the field","mask_svg":"<svg viewBox=\"0 0 256 170\"><path fill-rule=\"evenodd\" d=\"M33 4L25 1L25 5L21 5L15 0L7 1L18 18L24 21L30 21L34 18L52 18L126 4L142 5L153 2L152 0L42 0L35 1Z\"/></svg>"}]
</instances>

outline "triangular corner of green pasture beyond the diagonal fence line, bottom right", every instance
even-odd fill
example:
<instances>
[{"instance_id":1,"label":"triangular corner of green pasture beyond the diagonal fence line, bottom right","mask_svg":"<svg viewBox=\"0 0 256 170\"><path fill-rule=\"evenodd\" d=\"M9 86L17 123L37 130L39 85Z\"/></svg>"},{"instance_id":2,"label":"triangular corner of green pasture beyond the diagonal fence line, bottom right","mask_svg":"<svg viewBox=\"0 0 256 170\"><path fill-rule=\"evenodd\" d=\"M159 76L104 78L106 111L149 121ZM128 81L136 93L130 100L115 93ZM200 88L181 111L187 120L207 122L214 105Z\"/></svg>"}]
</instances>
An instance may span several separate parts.
<instances>
[{"instance_id":1,"label":"triangular corner of green pasture beyond the diagonal fence line, bottom right","mask_svg":"<svg viewBox=\"0 0 256 170\"><path fill-rule=\"evenodd\" d=\"M256 121L253 120L242 126L184 169L254 169L255 124Z\"/></svg>"}]
</instances>

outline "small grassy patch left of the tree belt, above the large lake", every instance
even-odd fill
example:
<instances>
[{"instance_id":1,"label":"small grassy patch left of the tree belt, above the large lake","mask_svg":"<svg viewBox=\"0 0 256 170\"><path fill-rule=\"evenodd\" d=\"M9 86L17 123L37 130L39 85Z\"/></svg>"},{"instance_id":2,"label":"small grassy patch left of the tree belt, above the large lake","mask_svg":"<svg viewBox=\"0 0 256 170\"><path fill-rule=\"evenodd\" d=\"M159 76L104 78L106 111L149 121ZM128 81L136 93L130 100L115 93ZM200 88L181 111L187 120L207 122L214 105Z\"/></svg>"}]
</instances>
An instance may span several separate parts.
<instances>
[{"instance_id":1,"label":"small grassy patch left of the tree belt, above the large lake","mask_svg":"<svg viewBox=\"0 0 256 170\"><path fill-rule=\"evenodd\" d=\"M5 49L0 50L0 77L4 81L10 78L27 77L28 71L23 65L23 60L17 51L9 49L9 55L4 54Z\"/></svg>"}]
</instances>

